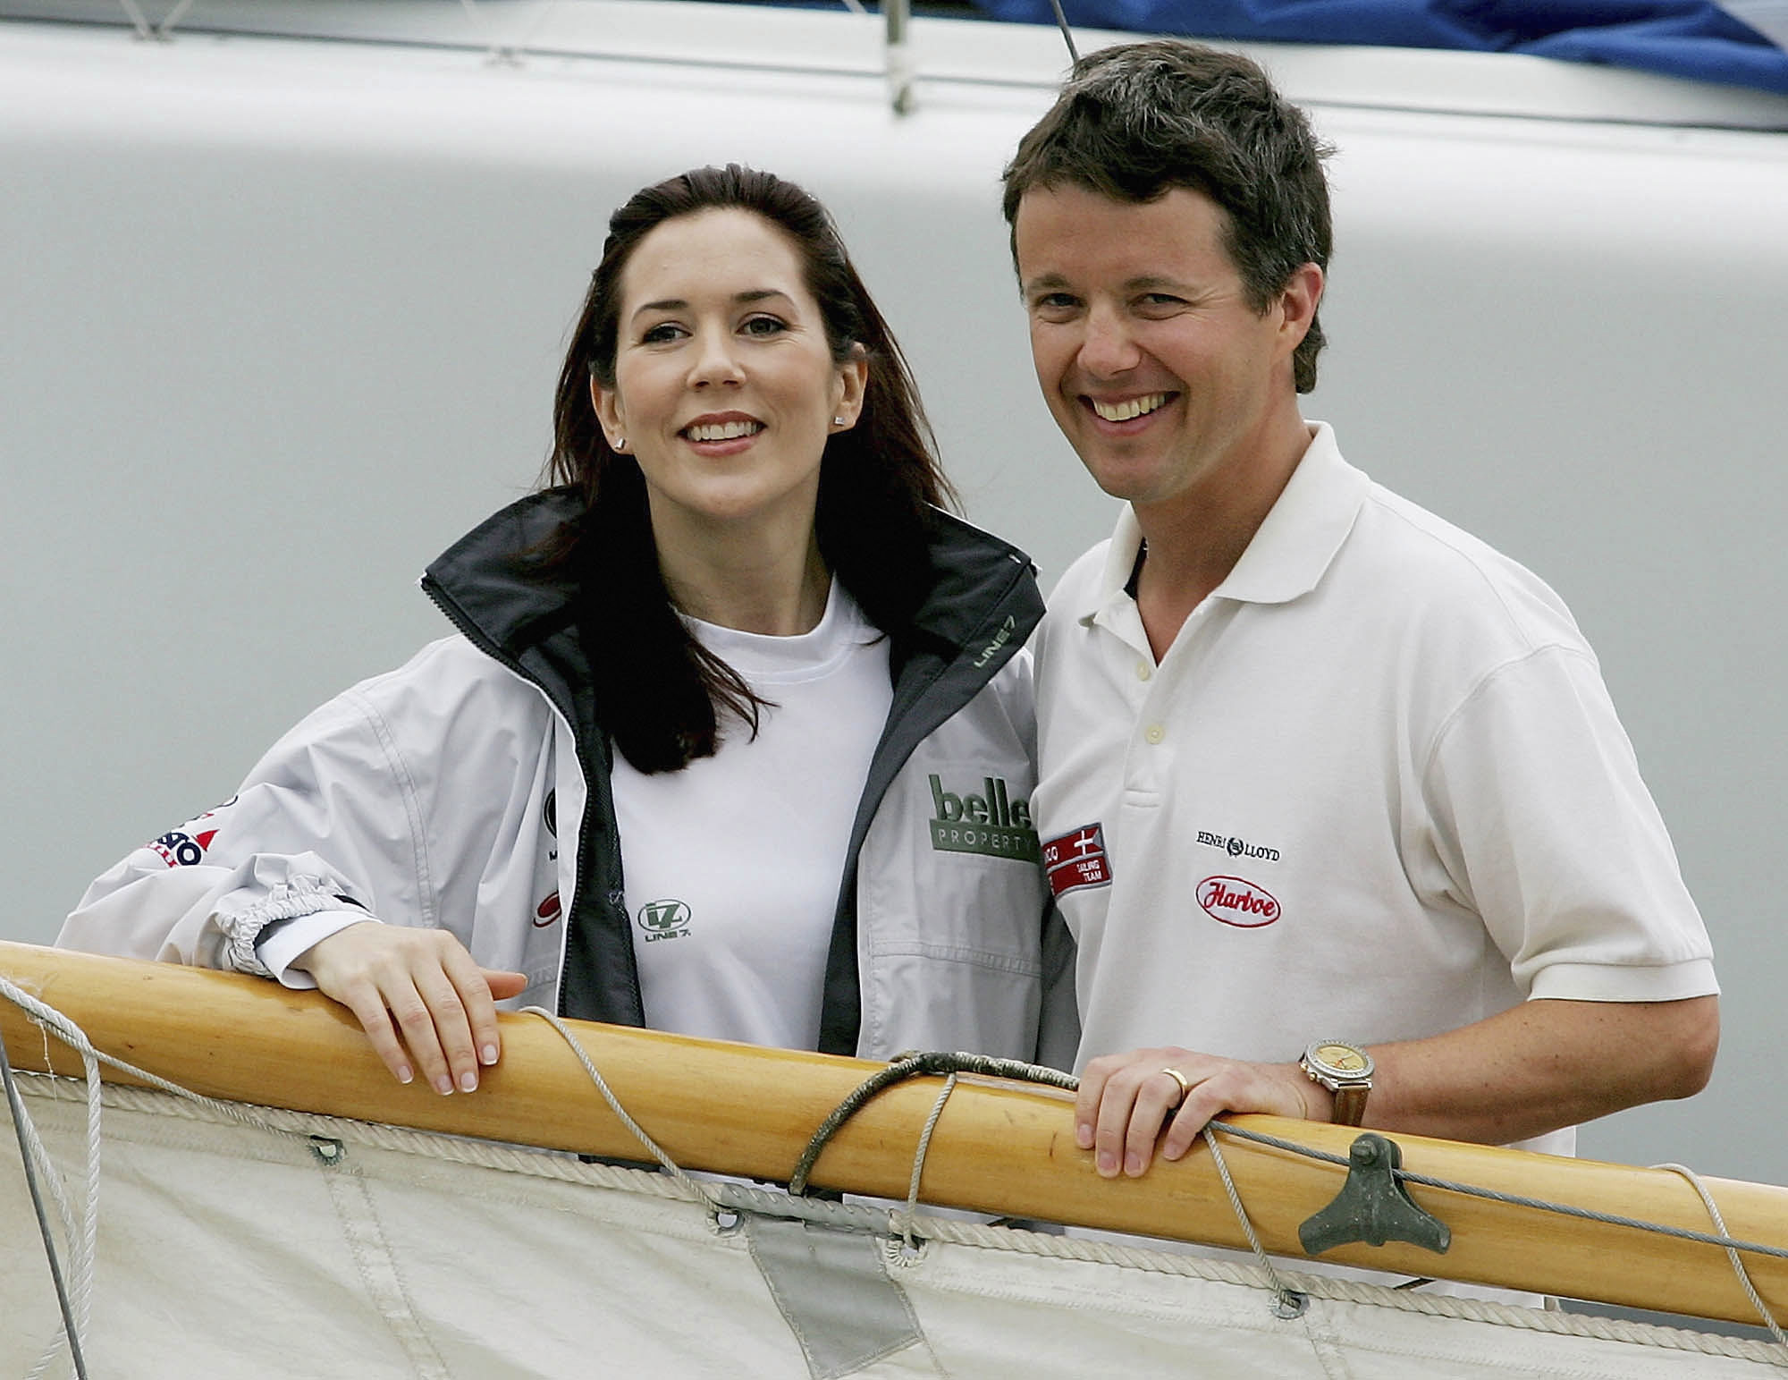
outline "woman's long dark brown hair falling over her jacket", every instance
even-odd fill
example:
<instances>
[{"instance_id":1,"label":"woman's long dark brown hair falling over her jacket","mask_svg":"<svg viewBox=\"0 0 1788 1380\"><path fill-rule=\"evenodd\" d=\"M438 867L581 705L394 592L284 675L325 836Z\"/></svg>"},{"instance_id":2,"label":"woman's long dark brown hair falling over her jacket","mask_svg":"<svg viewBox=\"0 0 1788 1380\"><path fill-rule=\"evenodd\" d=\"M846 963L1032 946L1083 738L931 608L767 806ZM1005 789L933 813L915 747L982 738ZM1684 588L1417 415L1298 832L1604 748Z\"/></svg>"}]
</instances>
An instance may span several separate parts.
<instances>
[{"instance_id":1,"label":"woman's long dark brown hair falling over her jacket","mask_svg":"<svg viewBox=\"0 0 1788 1380\"><path fill-rule=\"evenodd\" d=\"M756 733L758 699L678 617L658 568L645 481L617 454L595 417L590 381L615 386L622 275L640 241L679 216L737 209L762 216L801 259L831 358L862 349L869 363L856 425L826 440L819 467L819 552L869 620L899 636L930 583L930 509L953 501L907 359L839 231L794 182L730 163L642 188L608 222L603 263L560 370L547 481L578 490L583 518L554 547L579 577L578 633L590 661L595 713L642 772L687 767L721 744L721 713Z\"/></svg>"}]
</instances>

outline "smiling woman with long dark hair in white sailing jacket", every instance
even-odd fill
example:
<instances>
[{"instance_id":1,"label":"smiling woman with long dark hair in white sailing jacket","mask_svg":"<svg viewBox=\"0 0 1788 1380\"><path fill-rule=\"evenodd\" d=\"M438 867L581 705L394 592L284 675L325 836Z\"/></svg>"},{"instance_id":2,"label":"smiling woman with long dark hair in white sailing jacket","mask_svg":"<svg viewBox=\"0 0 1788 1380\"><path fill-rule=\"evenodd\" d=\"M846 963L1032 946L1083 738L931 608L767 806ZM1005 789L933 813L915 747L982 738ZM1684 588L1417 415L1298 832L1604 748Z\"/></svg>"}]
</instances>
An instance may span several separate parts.
<instances>
[{"instance_id":1,"label":"smiling woman with long dark hair in white sailing jacket","mask_svg":"<svg viewBox=\"0 0 1788 1380\"><path fill-rule=\"evenodd\" d=\"M424 576L460 635L316 710L59 942L320 987L443 1094L497 1062L497 1001L1071 1058L1017 654L1042 602L940 511L926 438L819 202L738 166L642 189L560 375L558 484Z\"/></svg>"}]
</instances>

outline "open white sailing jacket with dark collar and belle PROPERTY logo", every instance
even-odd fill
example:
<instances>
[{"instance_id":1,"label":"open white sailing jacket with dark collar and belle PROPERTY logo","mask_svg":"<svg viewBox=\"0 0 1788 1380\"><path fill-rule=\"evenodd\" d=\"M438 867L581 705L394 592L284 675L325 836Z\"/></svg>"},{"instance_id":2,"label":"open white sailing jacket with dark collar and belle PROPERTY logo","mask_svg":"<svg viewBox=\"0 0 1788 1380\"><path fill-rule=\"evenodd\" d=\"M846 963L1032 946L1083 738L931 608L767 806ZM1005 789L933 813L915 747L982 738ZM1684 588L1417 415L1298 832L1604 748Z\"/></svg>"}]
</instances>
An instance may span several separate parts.
<instances>
[{"instance_id":1,"label":"open white sailing jacket with dark collar and belle PROPERTY logo","mask_svg":"<svg viewBox=\"0 0 1788 1380\"><path fill-rule=\"evenodd\" d=\"M526 974L506 1006L644 1024L578 590L515 560L576 506L536 493L456 543L422 583L460 635L304 719L229 801L98 878L57 942L270 976L268 926L370 915L451 930L483 967ZM930 597L890 642L894 701L840 878L819 1048L1069 1067L1073 942L1028 810L1019 649L1042 601L1023 552L944 513L932 556Z\"/></svg>"}]
</instances>

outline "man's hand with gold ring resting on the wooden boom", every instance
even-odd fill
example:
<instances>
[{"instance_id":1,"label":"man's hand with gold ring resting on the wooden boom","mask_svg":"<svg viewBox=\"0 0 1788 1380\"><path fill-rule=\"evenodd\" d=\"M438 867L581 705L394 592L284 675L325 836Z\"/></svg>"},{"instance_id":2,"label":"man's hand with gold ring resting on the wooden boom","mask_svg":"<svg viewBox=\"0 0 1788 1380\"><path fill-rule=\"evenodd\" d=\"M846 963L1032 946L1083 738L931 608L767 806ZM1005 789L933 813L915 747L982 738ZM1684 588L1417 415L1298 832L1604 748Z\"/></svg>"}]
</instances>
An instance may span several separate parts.
<instances>
[{"instance_id":1,"label":"man's hand with gold ring resting on the wooden boom","mask_svg":"<svg viewBox=\"0 0 1788 1380\"><path fill-rule=\"evenodd\" d=\"M1168 1069L1185 1080L1180 1081ZM1148 1169L1155 1137L1171 1115L1162 1158L1177 1160L1210 1117L1223 1112L1269 1112L1280 1117L1327 1121L1328 1092L1309 1080L1296 1064L1244 1064L1212 1058L1191 1049L1134 1049L1103 1055L1080 1074L1075 1101L1075 1140L1094 1151L1105 1178Z\"/></svg>"}]
</instances>

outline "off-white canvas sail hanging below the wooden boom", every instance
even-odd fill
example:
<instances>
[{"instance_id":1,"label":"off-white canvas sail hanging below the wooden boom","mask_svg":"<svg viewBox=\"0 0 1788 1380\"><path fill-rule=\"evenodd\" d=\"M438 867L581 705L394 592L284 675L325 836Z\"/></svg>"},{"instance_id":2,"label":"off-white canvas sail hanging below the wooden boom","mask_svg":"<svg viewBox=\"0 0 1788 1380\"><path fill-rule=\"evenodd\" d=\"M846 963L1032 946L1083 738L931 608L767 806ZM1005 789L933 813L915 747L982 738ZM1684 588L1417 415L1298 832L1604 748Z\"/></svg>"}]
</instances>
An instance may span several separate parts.
<instances>
[{"instance_id":1,"label":"off-white canvas sail hanging below the wooden boom","mask_svg":"<svg viewBox=\"0 0 1788 1380\"><path fill-rule=\"evenodd\" d=\"M82 1087L20 1081L79 1214ZM908 1251L867 1208L837 1214L856 1224L717 1214L665 1174L574 1157L266 1108L241 1123L132 1089L105 1101L95 1376L1781 1373L1758 1342L1302 1275L1286 1317L1253 1267L937 1219ZM4 1375L59 1328L36 1235L14 1162Z\"/></svg>"}]
</instances>

